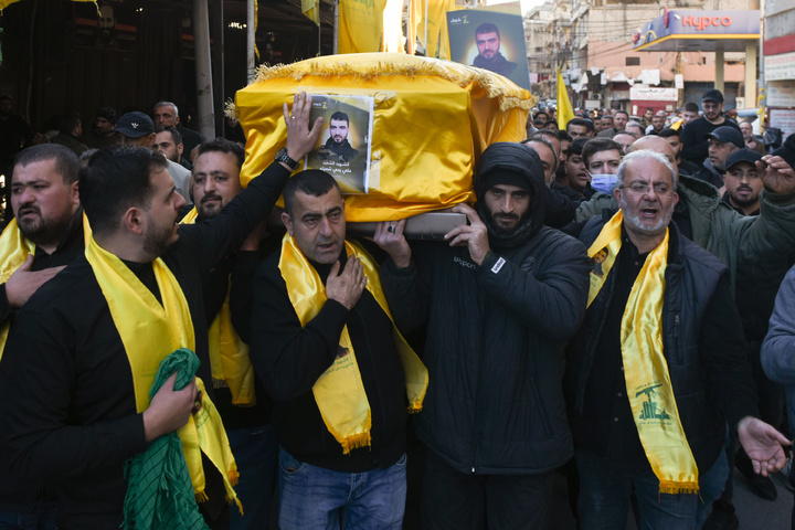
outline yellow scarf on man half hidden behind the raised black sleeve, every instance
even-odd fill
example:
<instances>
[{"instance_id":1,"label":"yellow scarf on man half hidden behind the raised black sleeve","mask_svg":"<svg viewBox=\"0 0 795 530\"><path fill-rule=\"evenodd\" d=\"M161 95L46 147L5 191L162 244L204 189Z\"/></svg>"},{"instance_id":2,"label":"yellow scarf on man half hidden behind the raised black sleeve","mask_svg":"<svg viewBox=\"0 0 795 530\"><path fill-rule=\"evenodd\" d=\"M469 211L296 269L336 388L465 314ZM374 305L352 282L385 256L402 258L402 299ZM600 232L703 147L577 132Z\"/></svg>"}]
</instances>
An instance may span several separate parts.
<instances>
[{"instance_id":1,"label":"yellow scarf on man half hidden behind the raised black sleeve","mask_svg":"<svg viewBox=\"0 0 795 530\"><path fill-rule=\"evenodd\" d=\"M195 206L182 218L181 224L195 224L199 213ZM256 404L254 392L254 367L248 360L248 344L243 342L232 326L229 290L221 310L208 330L210 367L213 386L229 386L232 403L237 406Z\"/></svg>"}]
</instances>

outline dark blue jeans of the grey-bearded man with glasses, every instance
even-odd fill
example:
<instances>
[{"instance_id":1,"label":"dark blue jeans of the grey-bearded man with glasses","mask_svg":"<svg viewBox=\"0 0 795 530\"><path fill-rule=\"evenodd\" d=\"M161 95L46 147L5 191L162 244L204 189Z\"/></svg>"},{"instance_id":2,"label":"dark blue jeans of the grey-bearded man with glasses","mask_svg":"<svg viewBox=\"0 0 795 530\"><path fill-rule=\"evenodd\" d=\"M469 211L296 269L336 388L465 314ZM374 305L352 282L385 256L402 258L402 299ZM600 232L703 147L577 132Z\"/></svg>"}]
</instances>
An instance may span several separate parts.
<instances>
[{"instance_id":1,"label":"dark blue jeans of the grey-bearded man with glasses","mask_svg":"<svg viewBox=\"0 0 795 530\"><path fill-rule=\"evenodd\" d=\"M725 462L725 460L724 460ZM698 494L660 494L659 479L650 468L632 471L615 462L576 448L580 471L577 516L581 530L624 530L635 496L638 530L692 530L696 528ZM725 480L725 466L713 466ZM712 469L701 480L712 480ZM714 480L721 484L720 479Z\"/></svg>"}]
</instances>

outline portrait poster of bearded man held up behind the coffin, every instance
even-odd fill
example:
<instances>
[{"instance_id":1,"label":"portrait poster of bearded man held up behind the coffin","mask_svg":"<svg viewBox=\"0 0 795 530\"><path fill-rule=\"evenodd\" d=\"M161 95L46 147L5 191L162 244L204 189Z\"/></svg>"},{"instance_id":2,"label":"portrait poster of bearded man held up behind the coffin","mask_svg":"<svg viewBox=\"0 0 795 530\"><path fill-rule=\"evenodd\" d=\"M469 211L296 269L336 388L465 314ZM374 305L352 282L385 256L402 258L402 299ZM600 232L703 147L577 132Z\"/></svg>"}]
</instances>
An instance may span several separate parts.
<instances>
[{"instance_id":1,"label":"portrait poster of bearded man held up behind the coffin","mask_svg":"<svg viewBox=\"0 0 795 530\"><path fill-rule=\"evenodd\" d=\"M524 28L519 11L476 8L447 12L451 59L490 70L531 91Z\"/></svg>"}]
</instances>

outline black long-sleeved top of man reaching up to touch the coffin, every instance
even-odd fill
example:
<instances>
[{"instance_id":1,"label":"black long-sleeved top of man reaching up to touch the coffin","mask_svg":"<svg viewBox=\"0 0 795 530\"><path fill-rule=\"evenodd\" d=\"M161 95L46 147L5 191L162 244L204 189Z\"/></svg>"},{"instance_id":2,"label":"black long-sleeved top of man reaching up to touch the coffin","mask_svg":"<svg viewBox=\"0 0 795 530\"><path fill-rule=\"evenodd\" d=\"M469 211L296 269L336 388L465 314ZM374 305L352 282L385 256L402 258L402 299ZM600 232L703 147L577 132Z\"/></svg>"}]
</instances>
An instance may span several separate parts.
<instances>
[{"instance_id":1,"label":"black long-sleeved top of man reaching up to touch the coffin","mask_svg":"<svg viewBox=\"0 0 795 530\"><path fill-rule=\"evenodd\" d=\"M163 255L190 308L210 395L204 275L240 247L288 176L274 162L212 221L181 225ZM121 523L125 460L145 448L127 353L82 255L19 311L0 364L0 452L14 475L54 484L61 528L106 529Z\"/></svg>"}]
</instances>

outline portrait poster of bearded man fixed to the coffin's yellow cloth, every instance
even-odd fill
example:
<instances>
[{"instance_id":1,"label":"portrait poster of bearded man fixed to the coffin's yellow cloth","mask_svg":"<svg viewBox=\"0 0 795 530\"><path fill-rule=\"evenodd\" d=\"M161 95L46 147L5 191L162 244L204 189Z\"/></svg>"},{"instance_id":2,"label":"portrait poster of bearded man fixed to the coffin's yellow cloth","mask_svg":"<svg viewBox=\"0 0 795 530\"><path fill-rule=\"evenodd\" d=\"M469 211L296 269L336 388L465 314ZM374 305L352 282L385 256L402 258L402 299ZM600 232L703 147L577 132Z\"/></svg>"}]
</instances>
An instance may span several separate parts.
<instances>
[{"instance_id":1,"label":"portrait poster of bearded man fixed to the coffin's yellow cloth","mask_svg":"<svg viewBox=\"0 0 795 530\"><path fill-rule=\"evenodd\" d=\"M324 130L306 157L305 169L331 174L342 193L367 193L373 98L314 94L309 123L318 116L324 118Z\"/></svg>"}]
</instances>

